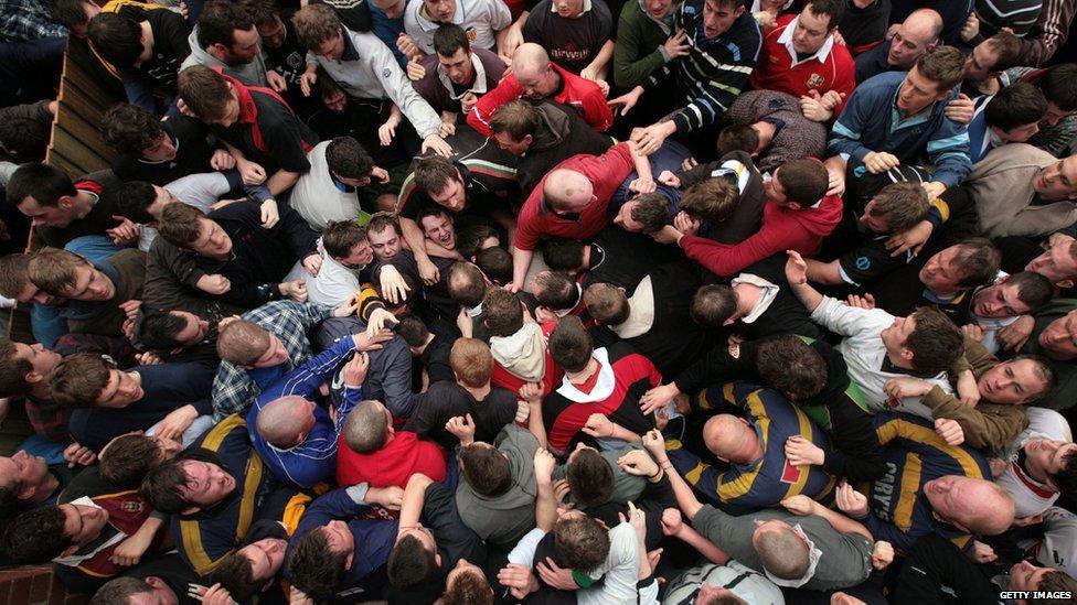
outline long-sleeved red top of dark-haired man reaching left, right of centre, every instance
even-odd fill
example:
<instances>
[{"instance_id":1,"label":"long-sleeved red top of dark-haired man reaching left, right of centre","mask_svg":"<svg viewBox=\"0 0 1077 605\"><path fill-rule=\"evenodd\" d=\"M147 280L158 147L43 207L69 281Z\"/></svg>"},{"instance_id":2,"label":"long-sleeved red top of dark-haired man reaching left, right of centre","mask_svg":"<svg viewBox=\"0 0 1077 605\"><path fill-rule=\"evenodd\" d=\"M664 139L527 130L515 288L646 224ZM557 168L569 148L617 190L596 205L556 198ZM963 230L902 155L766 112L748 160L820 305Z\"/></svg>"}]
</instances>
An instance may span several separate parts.
<instances>
[{"instance_id":1,"label":"long-sleeved red top of dark-haired man reaching left, right of centre","mask_svg":"<svg viewBox=\"0 0 1077 605\"><path fill-rule=\"evenodd\" d=\"M839 195L828 195L818 207L799 210L768 202L763 208L763 226L748 239L739 244L721 244L705 237L684 236L681 248L690 259L714 274L729 277L783 250L813 256L823 238L841 222L841 214Z\"/></svg>"}]
</instances>

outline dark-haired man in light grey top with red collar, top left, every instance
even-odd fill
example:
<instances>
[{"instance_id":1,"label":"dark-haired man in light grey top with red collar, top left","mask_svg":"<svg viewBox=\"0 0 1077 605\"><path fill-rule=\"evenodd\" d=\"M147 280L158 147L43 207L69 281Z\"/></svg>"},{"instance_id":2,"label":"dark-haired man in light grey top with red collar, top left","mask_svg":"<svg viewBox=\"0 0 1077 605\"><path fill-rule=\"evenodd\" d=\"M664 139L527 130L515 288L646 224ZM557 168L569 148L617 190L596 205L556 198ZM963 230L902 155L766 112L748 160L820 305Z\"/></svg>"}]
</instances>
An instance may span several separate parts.
<instances>
[{"instance_id":1,"label":"dark-haired man in light grey top with red collar, top left","mask_svg":"<svg viewBox=\"0 0 1077 605\"><path fill-rule=\"evenodd\" d=\"M180 72L204 65L252 86L269 86L277 91L288 86L266 63L254 12L243 4L227 0L206 2L188 42L191 54L180 65Z\"/></svg>"}]
</instances>

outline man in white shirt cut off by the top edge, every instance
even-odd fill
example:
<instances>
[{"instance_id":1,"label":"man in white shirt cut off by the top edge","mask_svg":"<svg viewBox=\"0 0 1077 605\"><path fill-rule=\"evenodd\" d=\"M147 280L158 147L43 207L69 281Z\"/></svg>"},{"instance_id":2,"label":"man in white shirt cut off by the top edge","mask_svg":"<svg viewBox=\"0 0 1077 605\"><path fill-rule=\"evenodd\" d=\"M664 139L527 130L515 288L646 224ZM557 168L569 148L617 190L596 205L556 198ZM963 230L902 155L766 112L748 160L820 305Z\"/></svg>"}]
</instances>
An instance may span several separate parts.
<instances>
[{"instance_id":1,"label":"man in white shirt cut off by the top edge","mask_svg":"<svg viewBox=\"0 0 1077 605\"><path fill-rule=\"evenodd\" d=\"M402 52L414 56L415 51L433 54L434 31L442 23L452 23L468 32L468 37L479 48L500 46L505 29L512 23L512 14L503 2L493 0L420 0L404 9L404 31L410 46ZM414 50L413 50L414 47Z\"/></svg>"}]
</instances>

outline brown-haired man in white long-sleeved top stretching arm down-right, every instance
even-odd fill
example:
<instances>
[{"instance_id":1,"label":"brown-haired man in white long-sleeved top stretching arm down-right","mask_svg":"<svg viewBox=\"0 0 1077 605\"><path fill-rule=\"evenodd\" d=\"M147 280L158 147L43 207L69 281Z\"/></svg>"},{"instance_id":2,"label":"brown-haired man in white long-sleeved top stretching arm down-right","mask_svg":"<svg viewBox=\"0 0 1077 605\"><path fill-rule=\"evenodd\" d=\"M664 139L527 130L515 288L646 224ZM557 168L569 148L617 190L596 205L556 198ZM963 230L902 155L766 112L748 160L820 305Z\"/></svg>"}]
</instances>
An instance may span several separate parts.
<instances>
[{"instance_id":1,"label":"brown-haired man in white long-sleeved top stretching arm down-right","mask_svg":"<svg viewBox=\"0 0 1077 605\"><path fill-rule=\"evenodd\" d=\"M452 152L439 134L441 120L437 111L412 88L392 53L374 34L344 28L324 4L305 7L291 19L299 42L316 58L307 63L301 85L309 89L321 66L353 97L392 99L422 139L423 151L433 149L439 155Z\"/></svg>"}]
</instances>

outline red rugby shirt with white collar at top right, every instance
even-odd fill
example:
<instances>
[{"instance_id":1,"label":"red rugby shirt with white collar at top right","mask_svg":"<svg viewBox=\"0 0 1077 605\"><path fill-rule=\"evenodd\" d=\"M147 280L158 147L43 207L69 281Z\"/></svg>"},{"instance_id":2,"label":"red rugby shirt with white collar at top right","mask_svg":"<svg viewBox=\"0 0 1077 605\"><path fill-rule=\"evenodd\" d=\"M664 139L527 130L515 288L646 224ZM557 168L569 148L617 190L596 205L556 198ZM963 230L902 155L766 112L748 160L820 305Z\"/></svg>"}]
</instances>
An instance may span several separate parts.
<instances>
[{"instance_id":1,"label":"red rugby shirt with white collar at top right","mask_svg":"<svg viewBox=\"0 0 1077 605\"><path fill-rule=\"evenodd\" d=\"M828 90L844 93L845 98L834 109L836 118L856 86L856 63L844 44L834 42L825 60L813 57L793 65L796 58L778 39L787 29L796 28L797 17L779 17L775 28L764 36L759 63L749 82L756 90L779 90L795 97L806 96L811 90L819 90L820 95Z\"/></svg>"}]
</instances>

